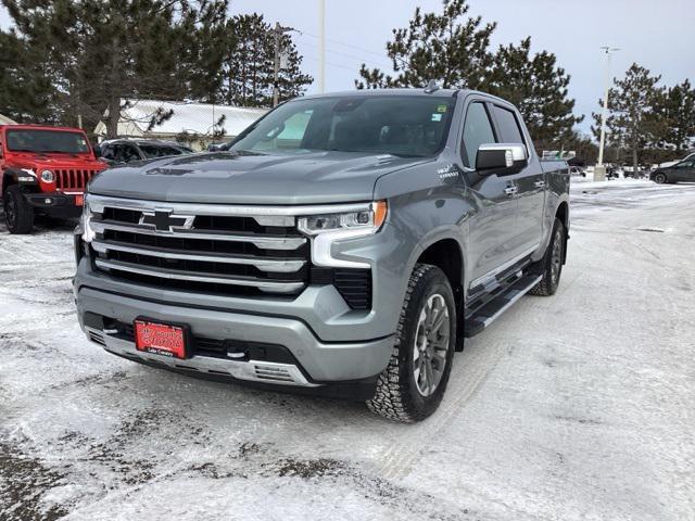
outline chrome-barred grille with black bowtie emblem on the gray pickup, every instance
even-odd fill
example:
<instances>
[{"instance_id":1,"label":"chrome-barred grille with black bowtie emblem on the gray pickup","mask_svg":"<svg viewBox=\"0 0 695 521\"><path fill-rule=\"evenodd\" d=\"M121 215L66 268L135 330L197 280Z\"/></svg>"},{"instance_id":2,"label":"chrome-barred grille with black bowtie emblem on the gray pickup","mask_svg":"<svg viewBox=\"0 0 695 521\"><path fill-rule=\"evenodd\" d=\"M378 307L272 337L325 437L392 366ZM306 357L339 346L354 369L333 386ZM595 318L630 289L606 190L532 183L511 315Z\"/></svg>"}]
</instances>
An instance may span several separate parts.
<instances>
[{"instance_id":1,"label":"chrome-barred grille with black bowtie emblem on the gray pickup","mask_svg":"<svg viewBox=\"0 0 695 521\"><path fill-rule=\"evenodd\" d=\"M98 195L89 208L94 267L113 277L231 295L291 297L308 284L309 244L293 215Z\"/></svg>"}]
</instances>

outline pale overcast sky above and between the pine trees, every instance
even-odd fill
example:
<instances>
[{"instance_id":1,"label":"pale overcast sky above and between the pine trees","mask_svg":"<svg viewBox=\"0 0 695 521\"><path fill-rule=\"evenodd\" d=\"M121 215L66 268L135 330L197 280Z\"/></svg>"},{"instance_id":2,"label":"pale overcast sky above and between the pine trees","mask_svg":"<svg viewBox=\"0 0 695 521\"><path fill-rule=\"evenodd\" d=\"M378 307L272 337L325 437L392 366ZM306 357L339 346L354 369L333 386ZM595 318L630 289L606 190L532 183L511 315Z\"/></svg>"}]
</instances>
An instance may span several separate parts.
<instances>
[{"instance_id":1,"label":"pale overcast sky above and between the pine trees","mask_svg":"<svg viewBox=\"0 0 695 521\"><path fill-rule=\"evenodd\" d=\"M304 69L317 77L317 0L231 0L231 13L260 12L301 31L295 35ZM632 62L662 76L664 85L690 78L695 84L695 2L693 0L469 0L470 14L497 22L492 43L518 42L531 36L533 51L557 55L572 79L576 112L591 111L603 91L604 56L599 47L621 50L614 75ZM440 0L326 0L327 90L354 88L361 63L390 71L386 41L391 29L407 25L415 8L441 11ZM0 8L0 26L9 24ZM309 87L316 91L316 85Z\"/></svg>"}]
</instances>

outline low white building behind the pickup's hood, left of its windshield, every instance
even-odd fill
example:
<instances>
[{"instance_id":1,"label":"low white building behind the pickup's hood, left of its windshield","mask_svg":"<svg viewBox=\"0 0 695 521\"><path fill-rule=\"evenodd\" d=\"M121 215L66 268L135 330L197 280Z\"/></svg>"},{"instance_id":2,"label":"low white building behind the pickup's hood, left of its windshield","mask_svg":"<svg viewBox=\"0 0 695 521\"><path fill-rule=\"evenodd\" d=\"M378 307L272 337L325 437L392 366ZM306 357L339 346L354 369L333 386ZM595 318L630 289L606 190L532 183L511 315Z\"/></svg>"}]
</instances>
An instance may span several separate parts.
<instances>
[{"instance_id":1,"label":"low white building behind the pickup's hood, left of its windshield","mask_svg":"<svg viewBox=\"0 0 695 521\"><path fill-rule=\"evenodd\" d=\"M215 142L229 141L244 128L263 116L268 109L213 105L157 100L122 100L119 138L151 138L185 142L194 150L204 150L213 142L213 134L220 132ZM157 113L172 116L152 128L150 124ZM106 115L106 114L104 114ZM220 118L224 119L220 124ZM106 137L106 123L99 122L94 134L101 141Z\"/></svg>"}]
</instances>

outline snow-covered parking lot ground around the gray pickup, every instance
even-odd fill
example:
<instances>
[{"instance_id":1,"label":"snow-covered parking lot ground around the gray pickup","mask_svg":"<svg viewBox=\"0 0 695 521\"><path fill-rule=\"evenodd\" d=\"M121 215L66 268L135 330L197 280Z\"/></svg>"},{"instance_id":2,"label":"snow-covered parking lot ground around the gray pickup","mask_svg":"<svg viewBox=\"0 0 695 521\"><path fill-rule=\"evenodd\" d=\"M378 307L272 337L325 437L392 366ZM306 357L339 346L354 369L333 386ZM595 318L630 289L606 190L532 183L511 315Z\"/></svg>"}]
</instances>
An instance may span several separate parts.
<instances>
[{"instance_id":1,"label":"snow-covered parking lot ground around the gray pickup","mask_svg":"<svg viewBox=\"0 0 695 521\"><path fill-rule=\"evenodd\" d=\"M572 186L553 297L416 425L88 343L71 224L0 229L0 520L695 519L695 186Z\"/></svg>"}]
</instances>

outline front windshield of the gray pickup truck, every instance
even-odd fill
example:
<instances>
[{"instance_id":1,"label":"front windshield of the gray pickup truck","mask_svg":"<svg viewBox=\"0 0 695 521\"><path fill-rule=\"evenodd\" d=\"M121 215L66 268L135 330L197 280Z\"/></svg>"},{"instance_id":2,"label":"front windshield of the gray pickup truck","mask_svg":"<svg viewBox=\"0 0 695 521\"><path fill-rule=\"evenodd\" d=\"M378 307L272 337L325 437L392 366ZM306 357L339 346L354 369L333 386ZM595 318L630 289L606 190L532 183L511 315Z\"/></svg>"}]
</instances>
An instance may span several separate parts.
<instances>
[{"instance_id":1,"label":"front windshield of the gray pickup truck","mask_svg":"<svg viewBox=\"0 0 695 521\"><path fill-rule=\"evenodd\" d=\"M444 147L453 103L448 98L415 96L300 99L244 130L230 150L434 155Z\"/></svg>"}]
</instances>

